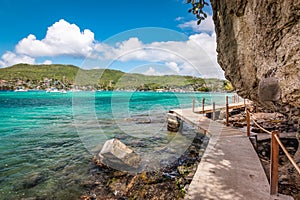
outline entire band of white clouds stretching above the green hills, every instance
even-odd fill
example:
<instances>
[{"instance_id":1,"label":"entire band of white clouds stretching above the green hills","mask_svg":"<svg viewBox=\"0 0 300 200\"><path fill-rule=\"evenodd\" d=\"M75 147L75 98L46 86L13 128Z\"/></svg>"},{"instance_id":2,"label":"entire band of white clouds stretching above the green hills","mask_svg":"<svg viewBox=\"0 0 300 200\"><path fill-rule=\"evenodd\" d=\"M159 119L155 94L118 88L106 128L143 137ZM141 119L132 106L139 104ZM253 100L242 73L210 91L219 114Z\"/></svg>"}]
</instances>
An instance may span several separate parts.
<instances>
[{"instance_id":1,"label":"entire band of white clouds stretching above the green hills","mask_svg":"<svg viewBox=\"0 0 300 200\"><path fill-rule=\"evenodd\" d=\"M146 74L164 75L201 75L202 77L223 78L217 64L216 35L211 16L200 26L196 22L179 25L183 29L195 29L197 34L186 41L164 41L143 43L137 37L130 37L118 43L101 43L94 39L94 33L88 29L80 31L75 24L59 20L48 28L46 36L38 40L30 34L16 45L16 52L7 52L0 59L0 66L17 63L35 63L37 57L81 56L87 57L83 67L106 67L112 61L142 61L143 63L163 65L167 70L155 67L145 68ZM159 34L155 32L153 34ZM203 32L204 31L204 32ZM151 35L149 33L149 35ZM116 38L114 38L116 39ZM43 58L39 58L41 60ZM96 60L94 63L92 60ZM52 59L51 59L52 60ZM51 64L45 60L43 64ZM91 61L90 61L91 60ZM134 63L134 62L133 62Z\"/></svg>"}]
</instances>

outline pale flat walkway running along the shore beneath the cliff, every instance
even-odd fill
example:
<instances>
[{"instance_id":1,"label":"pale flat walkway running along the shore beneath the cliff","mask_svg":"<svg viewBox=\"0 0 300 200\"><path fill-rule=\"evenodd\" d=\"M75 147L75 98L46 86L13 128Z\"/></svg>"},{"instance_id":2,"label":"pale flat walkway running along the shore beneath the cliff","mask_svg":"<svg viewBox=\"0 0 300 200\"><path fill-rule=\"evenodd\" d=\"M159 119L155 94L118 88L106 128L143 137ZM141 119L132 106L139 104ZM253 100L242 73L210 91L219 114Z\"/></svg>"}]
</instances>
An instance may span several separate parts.
<instances>
[{"instance_id":1,"label":"pale flat walkway running along the shore beneath the cliff","mask_svg":"<svg viewBox=\"0 0 300 200\"><path fill-rule=\"evenodd\" d=\"M293 199L270 195L267 177L246 133L194 113L191 108L170 112L210 137L185 199Z\"/></svg>"}]
</instances>

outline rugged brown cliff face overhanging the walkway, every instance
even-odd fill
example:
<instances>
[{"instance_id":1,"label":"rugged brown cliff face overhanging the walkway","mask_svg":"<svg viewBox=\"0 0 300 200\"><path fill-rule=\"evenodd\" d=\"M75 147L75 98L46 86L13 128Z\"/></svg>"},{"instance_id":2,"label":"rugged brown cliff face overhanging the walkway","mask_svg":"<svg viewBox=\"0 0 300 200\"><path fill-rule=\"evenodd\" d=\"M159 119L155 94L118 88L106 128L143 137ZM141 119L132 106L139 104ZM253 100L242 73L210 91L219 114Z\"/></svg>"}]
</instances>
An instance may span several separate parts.
<instances>
[{"instance_id":1,"label":"rugged brown cliff face overhanging the walkway","mask_svg":"<svg viewBox=\"0 0 300 200\"><path fill-rule=\"evenodd\" d=\"M300 117L300 0L211 0L218 61L244 98Z\"/></svg>"}]
</instances>

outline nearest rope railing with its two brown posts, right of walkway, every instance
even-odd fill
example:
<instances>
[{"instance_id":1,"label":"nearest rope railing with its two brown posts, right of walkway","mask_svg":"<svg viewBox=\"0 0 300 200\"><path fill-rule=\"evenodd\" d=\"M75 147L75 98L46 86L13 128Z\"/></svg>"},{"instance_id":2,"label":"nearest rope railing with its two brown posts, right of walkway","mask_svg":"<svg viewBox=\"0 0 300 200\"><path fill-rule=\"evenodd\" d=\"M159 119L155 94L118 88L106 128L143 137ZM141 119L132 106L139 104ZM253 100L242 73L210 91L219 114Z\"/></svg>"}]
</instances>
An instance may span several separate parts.
<instances>
[{"instance_id":1,"label":"nearest rope railing with its two brown posts, right of walkway","mask_svg":"<svg viewBox=\"0 0 300 200\"><path fill-rule=\"evenodd\" d=\"M300 175L300 168L286 150L285 146L282 144L278 131L268 131L261 127L254 119L253 115L251 117L251 113L249 109L246 108L246 121L247 121L247 136L250 137L250 121L252 122L263 132L271 135L271 158L270 158L270 194L275 195L278 193L278 161L279 161L279 147L281 147L282 151L285 153L289 161L292 163L294 168L298 171Z\"/></svg>"}]
</instances>

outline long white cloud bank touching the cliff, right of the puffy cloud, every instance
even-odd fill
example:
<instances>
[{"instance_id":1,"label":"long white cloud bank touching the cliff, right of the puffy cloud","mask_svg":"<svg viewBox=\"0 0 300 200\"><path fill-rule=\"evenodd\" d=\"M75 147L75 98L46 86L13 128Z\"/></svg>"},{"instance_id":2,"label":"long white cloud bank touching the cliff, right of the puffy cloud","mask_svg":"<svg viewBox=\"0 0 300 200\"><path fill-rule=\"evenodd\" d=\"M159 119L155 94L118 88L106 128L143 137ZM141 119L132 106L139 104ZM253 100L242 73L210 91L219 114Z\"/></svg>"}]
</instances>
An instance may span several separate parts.
<instances>
[{"instance_id":1,"label":"long white cloud bank touching the cliff, right of the puffy cloud","mask_svg":"<svg viewBox=\"0 0 300 200\"><path fill-rule=\"evenodd\" d=\"M202 77L224 78L217 63L216 35L199 33L186 41L152 42L144 44L138 38L130 38L115 46L98 44L98 58L111 61L144 61L159 63L168 71L147 68L146 74L184 74ZM107 62L111 63L111 62ZM105 66L103 66L105 67ZM172 71L172 73L170 73Z\"/></svg>"}]
</instances>

